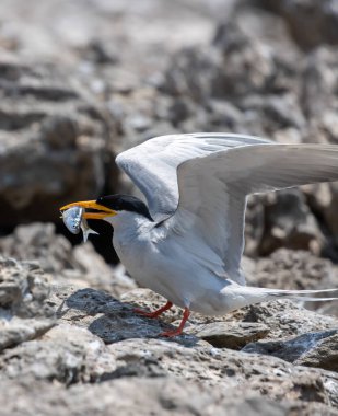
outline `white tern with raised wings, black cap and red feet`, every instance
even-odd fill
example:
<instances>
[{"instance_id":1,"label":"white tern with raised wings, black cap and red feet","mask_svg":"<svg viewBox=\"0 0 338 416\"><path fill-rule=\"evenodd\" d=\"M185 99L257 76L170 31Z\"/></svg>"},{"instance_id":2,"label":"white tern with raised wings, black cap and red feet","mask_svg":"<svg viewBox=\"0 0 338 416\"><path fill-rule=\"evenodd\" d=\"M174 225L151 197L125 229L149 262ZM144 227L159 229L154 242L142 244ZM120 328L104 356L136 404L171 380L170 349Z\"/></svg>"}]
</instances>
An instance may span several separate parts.
<instances>
[{"instance_id":1,"label":"white tern with raised wings, black cap and red feet","mask_svg":"<svg viewBox=\"0 0 338 416\"><path fill-rule=\"evenodd\" d=\"M223 315L267 300L317 301L315 294L337 291L246 287L241 257L247 196L337 181L338 146L280 145L217 132L171 135L124 151L116 163L148 206L132 196L110 195L61 211L80 206L91 209L84 218L108 221L128 273L167 299L158 311L138 312L155 317L173 304L184 309L180 325L163 336L179 335L190 311Z\"/></svg>"}]
</instances>

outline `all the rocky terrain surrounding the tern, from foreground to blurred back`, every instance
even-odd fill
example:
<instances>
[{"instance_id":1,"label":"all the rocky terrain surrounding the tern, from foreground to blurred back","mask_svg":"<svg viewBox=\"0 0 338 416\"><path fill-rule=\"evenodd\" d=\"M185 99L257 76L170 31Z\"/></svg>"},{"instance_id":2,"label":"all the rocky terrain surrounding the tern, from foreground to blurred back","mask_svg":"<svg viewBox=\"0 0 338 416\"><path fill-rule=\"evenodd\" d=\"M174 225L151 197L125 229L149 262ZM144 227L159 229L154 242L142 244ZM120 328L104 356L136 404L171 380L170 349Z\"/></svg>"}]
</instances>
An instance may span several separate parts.
<instances>
[{"instance_id":1,"label":"all the rocky terrain surrounding the tern, from foreground to blurred back","mask_svg":"<svg viewBox=\"0 0 338 416\"><path fill-rule=\"evenodd\" d=\"M114 158L158 135L338 143L337 45L337 0L0 2L3 414L338 414L337 302L194 314L159 339L179 311L136 316L163 300L58 211L137 193ZM249 284L337 287L337 184L252 197Z\"/></svg>"}]
</instances>

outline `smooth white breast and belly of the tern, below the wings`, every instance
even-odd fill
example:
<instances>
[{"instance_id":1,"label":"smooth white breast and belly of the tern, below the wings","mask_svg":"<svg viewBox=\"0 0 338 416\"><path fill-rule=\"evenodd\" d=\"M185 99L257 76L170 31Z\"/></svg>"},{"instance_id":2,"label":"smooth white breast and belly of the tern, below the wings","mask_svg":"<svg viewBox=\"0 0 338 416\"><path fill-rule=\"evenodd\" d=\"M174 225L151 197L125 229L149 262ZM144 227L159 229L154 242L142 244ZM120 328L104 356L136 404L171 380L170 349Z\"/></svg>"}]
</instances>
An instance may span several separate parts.
<instances>
[{"instance_id":1,"label":"smooth white breast and belly of the tern, below the wings","mask_svg":"<svg viewBox=\"0 0 338 416\"><path fill-rule=\"evenodd\" d=\"M220 277L221 259L207 262L197 256L188 241L167 238L164 229L154 228L144 217L124 215L118 222L114 220L119 216L109 221L114 227L114 247L128 273L141 286L180 308L210 315L224 309L221 291L228 282Z\"/></svg>"}]
</instances>

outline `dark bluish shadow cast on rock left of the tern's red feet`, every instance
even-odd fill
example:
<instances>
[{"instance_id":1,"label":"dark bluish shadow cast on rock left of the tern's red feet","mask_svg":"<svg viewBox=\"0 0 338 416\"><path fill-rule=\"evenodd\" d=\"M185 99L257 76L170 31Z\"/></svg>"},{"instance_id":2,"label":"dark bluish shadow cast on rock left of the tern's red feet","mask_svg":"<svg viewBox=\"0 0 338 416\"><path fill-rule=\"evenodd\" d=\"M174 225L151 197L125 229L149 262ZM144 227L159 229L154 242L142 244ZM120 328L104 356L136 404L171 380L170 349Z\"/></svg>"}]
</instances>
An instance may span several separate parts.
<instances>
[{"instance_id":1,"label":"dark bluish shadow cast on rock left of the tern's red feet","mask_svg":"<svg viewBox=\"0 0 338 416\"><path fill-rule=\"evenodd\" d=\"M80 311L84 314L79 314ZM85 325L105 344L129 338L158 338L160 333L172 328L161 319L140 316L133 312L131 304L123 303L108 293L90 288L77 290L63 298L57 316L66 321L77 321L81 326ZM194 335L180 335L173 340L193 347L199 338Z\"/></svg>"}]
</instances>

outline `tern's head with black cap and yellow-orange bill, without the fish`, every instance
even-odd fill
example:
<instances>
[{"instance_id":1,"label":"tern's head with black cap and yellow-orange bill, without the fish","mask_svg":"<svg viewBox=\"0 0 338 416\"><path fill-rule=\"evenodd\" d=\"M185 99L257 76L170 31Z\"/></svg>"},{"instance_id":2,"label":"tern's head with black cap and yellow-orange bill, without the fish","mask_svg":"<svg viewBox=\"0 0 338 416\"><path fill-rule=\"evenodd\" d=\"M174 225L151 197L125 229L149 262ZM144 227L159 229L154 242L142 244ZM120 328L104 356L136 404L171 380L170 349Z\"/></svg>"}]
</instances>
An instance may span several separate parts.
<instances>
[{"instance_id":1,"label":"tern's head with black cap and yellow-orange bill, without the fish","mask_svg":"<svg viewBox=\"0 0 338 416\"><path fill-rule=\"evenodd\" d=\"M96 200L72 203L61 207L60 211L62 212L72 207L84 208L83 217L85 219L103 220L120 212L133 212L152 221L147 205L141 199L130 195L107 195L101 196Z\"/></svg>"}]
</instances>

